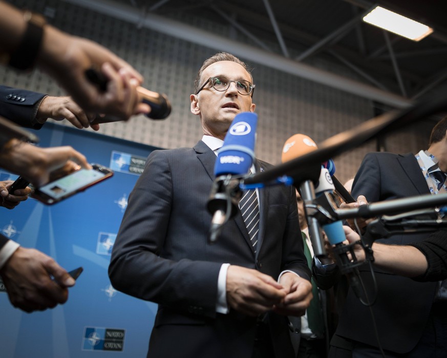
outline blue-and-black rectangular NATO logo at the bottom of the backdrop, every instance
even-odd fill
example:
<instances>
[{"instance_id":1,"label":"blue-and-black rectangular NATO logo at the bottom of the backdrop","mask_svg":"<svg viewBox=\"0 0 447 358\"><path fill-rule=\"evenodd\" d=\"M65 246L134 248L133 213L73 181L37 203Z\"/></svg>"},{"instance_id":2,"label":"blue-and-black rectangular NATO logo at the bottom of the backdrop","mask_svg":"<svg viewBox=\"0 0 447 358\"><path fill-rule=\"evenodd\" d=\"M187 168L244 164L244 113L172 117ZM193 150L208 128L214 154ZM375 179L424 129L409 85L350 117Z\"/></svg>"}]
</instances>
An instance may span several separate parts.
<instances>
[{"instance_id":1,"label":"blue-and-black rectangular NATO logo at the bottom of the backdrop","mask_svg":"<svg viewBox=\"0 0 447 358\"><path fill-rule=\"evenodd\" d=\"M122 352L124 333L124 329L86 327L82 338L82 350Z\"/></svg>"}]
</instances>

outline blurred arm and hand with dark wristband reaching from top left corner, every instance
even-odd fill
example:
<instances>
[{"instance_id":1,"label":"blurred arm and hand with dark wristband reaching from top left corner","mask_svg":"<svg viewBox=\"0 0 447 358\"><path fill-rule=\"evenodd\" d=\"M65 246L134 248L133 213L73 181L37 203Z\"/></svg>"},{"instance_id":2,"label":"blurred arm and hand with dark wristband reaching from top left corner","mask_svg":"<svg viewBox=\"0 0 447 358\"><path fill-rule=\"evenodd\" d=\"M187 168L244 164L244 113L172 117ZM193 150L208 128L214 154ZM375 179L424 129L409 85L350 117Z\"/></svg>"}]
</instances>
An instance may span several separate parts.
<instances>
[{"instance_id":1,"label":"blurred arm and hand with dark wristband reaching from top left corner","mask_svg":"<svg viewBox=\"0 0 447 358\"><path fill-rule=\"evenodd\" d=\"M21 12L3 1L0 34L1 63L19 70L37 66L54 77L85 111L112 114L122 120L150 112L137 93L142 76L97 43L59 31L40 15ZM109 80L104 92L84 74L92 67Z\"/></svg>"}]
</instances>

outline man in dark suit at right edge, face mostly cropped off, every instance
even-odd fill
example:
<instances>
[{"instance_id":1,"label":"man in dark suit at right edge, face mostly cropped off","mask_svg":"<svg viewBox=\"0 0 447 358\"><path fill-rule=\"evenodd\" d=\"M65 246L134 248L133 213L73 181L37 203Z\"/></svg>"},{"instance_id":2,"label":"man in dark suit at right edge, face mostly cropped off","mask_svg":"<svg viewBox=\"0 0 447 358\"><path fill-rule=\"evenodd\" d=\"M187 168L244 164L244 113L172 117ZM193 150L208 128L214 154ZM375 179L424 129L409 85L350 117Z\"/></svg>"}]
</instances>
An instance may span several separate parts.
<instances>
[{"instance_id":1,"label":"man in dark suit at right edge, face mostly cropped off","mask_svg":"<svg viewBox=\"0 0 447 358\"><path fill-rule=\"evenodd\" d=\"M368 202L408 196L446 193L447 118L433 129L427 151L396 155L369 153L355 176L352 195L364 195ZM359 201L362 200L360 196ZM441 233L442 234L442 233ZM442 234L444 235L444 234ZM383 244L408 245L426 240L430 234L395 235ZM436 249L435 249L436 251ZM432 250L432 254L434 251ZM442 254L442 251L440 252ZM429 258L429 256L428 256ZM430 260L429 260L430 264ZM370 297L371 273L360 269ZM387 357L447 356L447 304L438 294L438 282L417 282L375 268L377 300L372 306L378 339ZM424 280L424 276L418 279ZM369 308L350 290L337 330L331 342L330 357L381 357ZM346 350L345 350L346 349ZM352 355L350 350L352 350Z\"/></svg>"}]
</instances>

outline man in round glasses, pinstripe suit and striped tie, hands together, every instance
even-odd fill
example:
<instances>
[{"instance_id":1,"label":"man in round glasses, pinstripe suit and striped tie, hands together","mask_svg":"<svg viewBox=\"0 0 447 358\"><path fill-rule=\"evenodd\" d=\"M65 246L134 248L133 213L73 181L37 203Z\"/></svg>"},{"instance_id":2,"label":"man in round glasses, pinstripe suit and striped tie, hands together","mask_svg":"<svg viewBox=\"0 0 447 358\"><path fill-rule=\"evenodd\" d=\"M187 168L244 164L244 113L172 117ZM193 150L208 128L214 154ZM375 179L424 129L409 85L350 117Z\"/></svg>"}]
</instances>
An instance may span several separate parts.
<instances>
[{"instance_id":1,"label":"man in round glasses, pinstripe suit and striped tie, hands together","mask_svg":"<svg viewBox=\"0 0 447 358\"><path fill-rule=\"evenodd\" d=\"M287 315L304 314L312 297L294 189L256 193L258 246L241 212L207 243L214 150L238 113L254 111L251 82L238 58L207 59L190 95L202 140L151 153L129 197L109 275L118 290L159 305L148 357L294 356Z\"/></svg>"}]
</instances>

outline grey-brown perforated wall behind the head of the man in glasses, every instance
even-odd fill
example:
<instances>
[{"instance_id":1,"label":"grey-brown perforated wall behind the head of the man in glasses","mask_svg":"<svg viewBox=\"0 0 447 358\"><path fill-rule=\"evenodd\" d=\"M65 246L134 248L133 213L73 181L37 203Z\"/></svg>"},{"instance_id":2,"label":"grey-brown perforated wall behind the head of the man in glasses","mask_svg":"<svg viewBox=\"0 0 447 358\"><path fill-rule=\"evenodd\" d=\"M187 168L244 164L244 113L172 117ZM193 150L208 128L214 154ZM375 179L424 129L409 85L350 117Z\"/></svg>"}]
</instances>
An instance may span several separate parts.
<instances>
[{"instance_id":1,"label":"grey-brown perforated wall behind the head of the man in glasses","mask_svg":"<svg viewBox=\"0 0 447 358\"><path fill-rule=\"evenodd\" d=\"M145 87L165 93L172 102L172 114L164 121L137 116L129 122L102 124L100 133L162 148L192 146L201 138L200 120L189 112L189 94L193 91L197 70L204 59L216 53L214 49L63 1L20 0L13 5L47 14L49 23L56 27L91 38L108 47L141 72L145 78ZM207 26L214 32L232 38L238 36L223 23L216 25L201 18L191 18L190 23L200 23L202 28ZM254 68L253 77L257 86L253 101L257 104L260 119L256 148L260 159L279 163L284 142L295 133L307 134L318 143L374 116L372 105L367 99L256 63L250 65ZM313 65L320 68L336 67L340 73L356 77L339 64L315 61ZM18 74L1 67L0 79L8 86L50 95L63 94L52 79L39 71ZM426 148L433 124L432 121L416 124L402 129L400 134L389 136L386 140L387 149L406 153ZM369 151L375 151L374 142L335 158L338 179L345 181L353 176L361 159Z\"/></svg>"}]
</instances>

